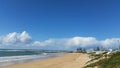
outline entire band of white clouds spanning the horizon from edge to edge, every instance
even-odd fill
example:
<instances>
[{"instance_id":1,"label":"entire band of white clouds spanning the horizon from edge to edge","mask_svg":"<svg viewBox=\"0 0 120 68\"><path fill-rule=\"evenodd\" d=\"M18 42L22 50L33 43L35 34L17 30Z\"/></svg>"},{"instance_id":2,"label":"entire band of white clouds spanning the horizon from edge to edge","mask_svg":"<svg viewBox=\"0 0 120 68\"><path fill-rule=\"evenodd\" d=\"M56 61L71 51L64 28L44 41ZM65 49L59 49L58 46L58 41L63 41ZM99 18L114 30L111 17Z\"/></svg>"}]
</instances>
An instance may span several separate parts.
<instances>
[{"instance_id":1,"label":"entire band of white clouds spanning the horizon from edge to edge","mask_svg":"<svg viewBox=\"0 0 120 68\"><path fill-rule=\"evenodd\" d=\"M120 38L107 38L97 40L95 37L71 37L59 39L47 39L44 41L35 41L26 31L22 33L9 33L0 36L0 48L17 48L17 49L72 49L77 47L94 48L118 48L120 47Z\"/></svg>"}]
</instances>

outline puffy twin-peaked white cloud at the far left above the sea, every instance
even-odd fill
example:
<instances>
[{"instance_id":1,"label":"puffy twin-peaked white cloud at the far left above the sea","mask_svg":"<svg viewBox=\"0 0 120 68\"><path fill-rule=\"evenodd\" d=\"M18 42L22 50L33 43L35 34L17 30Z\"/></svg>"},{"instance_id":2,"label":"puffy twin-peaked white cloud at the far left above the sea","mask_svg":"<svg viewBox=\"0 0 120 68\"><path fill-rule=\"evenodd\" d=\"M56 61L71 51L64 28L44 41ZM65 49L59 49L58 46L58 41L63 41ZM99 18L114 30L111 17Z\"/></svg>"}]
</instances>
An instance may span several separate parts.
<instances>
[{"instance_id":1,"label":"puffy twin-peaked white cloud at the far left above the sea","mask_svg":"<svg viewBox=\"0 0 120 68\"><path fill-rule=\"evenodd\" d=\"M26 31L22 33L9 33L6 36L0 37L0 45L19 45L19 44L30 44L32 42L31 36Z\"/></svg>"}]
</instances>

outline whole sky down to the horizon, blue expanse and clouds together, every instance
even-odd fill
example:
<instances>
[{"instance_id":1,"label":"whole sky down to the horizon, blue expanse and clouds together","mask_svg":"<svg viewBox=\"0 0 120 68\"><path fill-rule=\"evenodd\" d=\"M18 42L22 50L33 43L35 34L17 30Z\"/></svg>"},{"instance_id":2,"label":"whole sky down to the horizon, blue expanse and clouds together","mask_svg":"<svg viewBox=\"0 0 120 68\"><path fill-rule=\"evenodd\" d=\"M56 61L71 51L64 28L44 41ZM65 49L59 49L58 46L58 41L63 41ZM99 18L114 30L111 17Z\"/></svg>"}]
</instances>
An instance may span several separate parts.
<instances>
[{"instance_id":1,"label":"whole sky down to the horizon, blue expanse and clouds together","mask_svg":"<svg viewBox=\"0 0 120 68\"><path fill-rule=\"evenodd\" d=\"M119 7L119 0L0 0L0 48L118 47Z\"/></svg>"}]
</instances>

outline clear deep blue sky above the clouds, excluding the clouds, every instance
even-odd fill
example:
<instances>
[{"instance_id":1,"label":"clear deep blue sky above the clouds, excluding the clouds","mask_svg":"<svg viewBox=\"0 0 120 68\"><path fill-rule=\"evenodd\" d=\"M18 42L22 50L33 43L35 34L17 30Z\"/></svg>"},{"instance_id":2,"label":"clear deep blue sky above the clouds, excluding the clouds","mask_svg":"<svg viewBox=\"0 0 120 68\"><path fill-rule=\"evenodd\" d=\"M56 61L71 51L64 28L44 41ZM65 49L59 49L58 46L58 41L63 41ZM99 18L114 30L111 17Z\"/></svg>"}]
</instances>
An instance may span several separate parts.
<instances>
[{"instance_id":1,"label":"clear deep blue sky above the clouds, excluding the clouds","mask_svg":"<svg viewBox=\"0 0 120 68\"><path fill-rule=\"evenodd\" d=\"M33 40L120 37L119 0L0 0L0 35L26 31Z\"/></svg>"}]
</instances>

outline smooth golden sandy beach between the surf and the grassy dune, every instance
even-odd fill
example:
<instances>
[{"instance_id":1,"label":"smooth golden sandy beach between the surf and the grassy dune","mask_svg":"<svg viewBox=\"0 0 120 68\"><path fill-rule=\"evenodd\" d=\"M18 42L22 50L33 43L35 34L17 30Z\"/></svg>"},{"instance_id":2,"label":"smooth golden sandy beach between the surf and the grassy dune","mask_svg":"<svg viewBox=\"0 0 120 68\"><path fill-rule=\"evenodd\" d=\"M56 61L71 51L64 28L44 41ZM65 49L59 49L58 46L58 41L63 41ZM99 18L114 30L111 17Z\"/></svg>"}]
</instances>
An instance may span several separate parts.
<instances>
[{"instance_id":1,"label":"smooth golden sandy beach between the surf and the grassy dune","mask_svg":"<svg viewBox=\"0 0 120 68\"><path fill-rule=\"evenodd\" d=\"M82 68L89 59L87 54L67 53L56 58L21 63L3 68Z\"/></svg>"}]
</instances>

